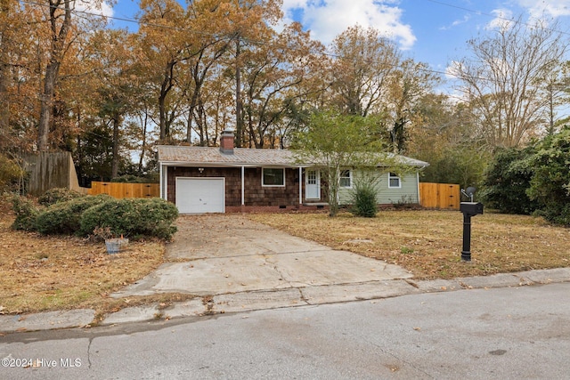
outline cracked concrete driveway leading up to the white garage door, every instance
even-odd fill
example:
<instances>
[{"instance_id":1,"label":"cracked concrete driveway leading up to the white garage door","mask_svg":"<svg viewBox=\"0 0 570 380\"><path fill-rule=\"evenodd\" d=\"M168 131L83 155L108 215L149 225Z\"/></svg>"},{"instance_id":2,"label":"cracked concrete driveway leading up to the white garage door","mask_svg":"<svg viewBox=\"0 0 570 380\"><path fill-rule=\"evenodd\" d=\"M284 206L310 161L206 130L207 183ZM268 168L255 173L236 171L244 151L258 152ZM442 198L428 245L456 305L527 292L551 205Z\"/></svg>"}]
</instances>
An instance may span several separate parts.
<instances>
[{"instance_id":1,"label":"cracked concrete driveway leading up to the white garage door","mask_svg":"<svg viewBox=\"0 0 570 380\"><path fill-rule=\"evenodd\" d=\"M411 278L399 266L296 238L241 214L183 215L176 224L167 245L171 263L113 296L224 295Z\"/></svg>"}]
</instances>

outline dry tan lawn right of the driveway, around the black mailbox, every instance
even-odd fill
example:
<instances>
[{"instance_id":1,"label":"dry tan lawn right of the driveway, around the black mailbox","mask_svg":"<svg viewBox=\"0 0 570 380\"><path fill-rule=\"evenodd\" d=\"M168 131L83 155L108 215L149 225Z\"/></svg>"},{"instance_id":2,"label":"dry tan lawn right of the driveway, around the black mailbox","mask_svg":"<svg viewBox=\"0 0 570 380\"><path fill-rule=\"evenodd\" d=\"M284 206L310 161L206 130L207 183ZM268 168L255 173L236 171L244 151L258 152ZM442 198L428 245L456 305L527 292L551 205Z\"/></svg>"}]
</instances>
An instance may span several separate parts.
<instances>
[{"instance_id":1,"label":"dry tan lawn right of the driveway, around the black mailbox","mask_svg":"<svg viewBox=\"0 0 570 380\"><path fill-rule=\"evenodd\" d=\"M462 262L463 214L380 211L351 214L251 214L251 219L329 247L402 265L416 279L452 279L568 266L570 229L532 216L490 214L471 219L471 262Z\"/></svg>"}]
</instances>

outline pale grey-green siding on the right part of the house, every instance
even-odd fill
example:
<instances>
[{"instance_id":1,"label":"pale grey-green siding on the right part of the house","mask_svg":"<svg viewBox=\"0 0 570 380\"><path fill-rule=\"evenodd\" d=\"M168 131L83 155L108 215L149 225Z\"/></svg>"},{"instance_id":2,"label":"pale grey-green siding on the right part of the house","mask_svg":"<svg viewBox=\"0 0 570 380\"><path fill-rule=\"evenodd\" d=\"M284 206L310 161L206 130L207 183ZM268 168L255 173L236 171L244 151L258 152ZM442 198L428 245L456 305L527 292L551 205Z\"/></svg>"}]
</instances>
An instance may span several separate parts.
<instances>
[{"instance_id":1,"label":"pale grey-green siding on the right part of the house","mask_svg":"<svg viewBox=\"0 0 570 380\"><path fill-rule=\"evenodd\" d=\"M359 173L353 171L353 185L354 181L358 181ZM388 174L379 173L379 181L377 182L378 189L378 204L389 205L397 203L419 203L418 197L418 174L409 173L403 174L400 177L400 189L388 188ZM338 197L341 205L348 205L352 203L354 194L353 189L341 188L338 190Z\"/></svg>"}]
</instances>

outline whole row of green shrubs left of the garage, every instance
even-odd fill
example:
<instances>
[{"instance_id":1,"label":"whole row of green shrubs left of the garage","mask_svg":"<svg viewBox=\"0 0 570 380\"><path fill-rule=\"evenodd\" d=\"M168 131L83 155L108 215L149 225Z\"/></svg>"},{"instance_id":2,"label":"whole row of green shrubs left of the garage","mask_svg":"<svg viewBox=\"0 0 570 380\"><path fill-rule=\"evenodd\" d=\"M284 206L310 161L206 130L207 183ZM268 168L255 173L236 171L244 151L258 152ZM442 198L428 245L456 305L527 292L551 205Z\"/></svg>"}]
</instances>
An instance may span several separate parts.
<instances>
[{"instance_id":1,"label":"whole row of green shrubs left of the garage","mask_svg":"<svg viewBox=\"0 0 570 380\"><path fill-rule=\"evenodd\" d=\"M38 210L29 200L15 197L15 230L37 230L44 235L75 234L88 237L96 230L132 239L171 239L178 217L175 205L161 198L116 199L108 195L69 197L59 192L55 202ZM50 199L50 203L52 199Z\"/></svg>"}]
</instances>

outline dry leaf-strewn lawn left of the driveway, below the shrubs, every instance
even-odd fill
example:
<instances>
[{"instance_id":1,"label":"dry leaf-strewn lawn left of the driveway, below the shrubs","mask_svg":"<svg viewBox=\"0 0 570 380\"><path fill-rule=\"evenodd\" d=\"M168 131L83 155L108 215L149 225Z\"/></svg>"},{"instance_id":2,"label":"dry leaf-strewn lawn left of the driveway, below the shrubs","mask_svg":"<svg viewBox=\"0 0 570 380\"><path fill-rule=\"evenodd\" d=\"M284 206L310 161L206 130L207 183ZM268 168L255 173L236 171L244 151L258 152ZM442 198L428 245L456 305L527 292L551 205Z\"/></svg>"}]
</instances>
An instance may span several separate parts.
<instances>
[{"instance_id":1,"label":"dry leaf-strewn lawn left of the driveway, below the shrubs","mask_svg":"<svg viewBox=\"0 0 570 380\"><path fill-rule=\"evenodd\" d=\"M0 206L0 212L0 313L91 308L101 316L127 305L165 305L187 298L176 294L108 296L164 262L161 241L131 242L126 250L109 255L102 242L14 231L8 206Z\"/></svg>"}]
</instances>

